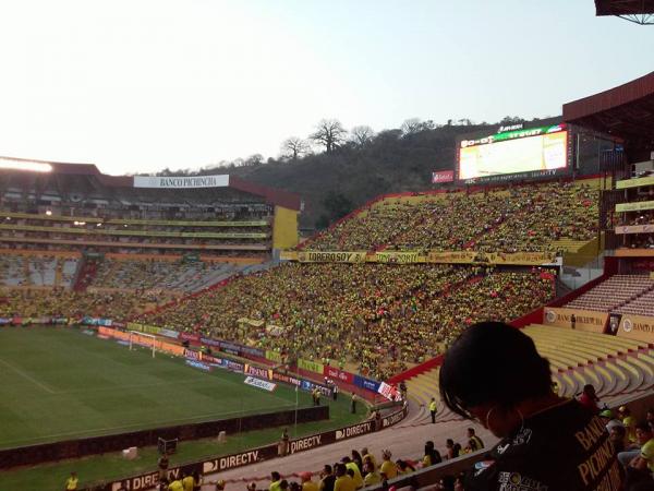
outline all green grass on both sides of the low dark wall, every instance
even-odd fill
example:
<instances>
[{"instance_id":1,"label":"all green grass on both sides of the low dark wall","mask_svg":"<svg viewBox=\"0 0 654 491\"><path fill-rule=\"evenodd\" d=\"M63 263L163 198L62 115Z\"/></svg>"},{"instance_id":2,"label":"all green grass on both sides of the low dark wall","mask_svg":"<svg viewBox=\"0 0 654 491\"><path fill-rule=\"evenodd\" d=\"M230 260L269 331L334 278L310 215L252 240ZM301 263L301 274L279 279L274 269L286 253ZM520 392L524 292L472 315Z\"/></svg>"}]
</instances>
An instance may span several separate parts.
<instances>
[{"instance_id":1,"label":"all green grass on both sides of the low dark wall","mask_svg":"<svg viewBox=\"0 0 654 491\"><path fill-rule=\"evenodd\" d=\"M0 328L0 447L132 431L292 408L295 391L274 394L243 384L243 375L210 374L182 360L146 350L130 351L113 342L53 327ZM299 406L311 397L298 393ZM330 403L330 420L290 428L291 438L338 428L363 417L349 414L347 398ZM172 465L226 455L279 440L279 428L181 442ZM156 467L155 447L140 448L136 460L120 453L0 471L0 489L58 490L71 470L82 483L112 480Z\"/></svg>"}]
</instances>

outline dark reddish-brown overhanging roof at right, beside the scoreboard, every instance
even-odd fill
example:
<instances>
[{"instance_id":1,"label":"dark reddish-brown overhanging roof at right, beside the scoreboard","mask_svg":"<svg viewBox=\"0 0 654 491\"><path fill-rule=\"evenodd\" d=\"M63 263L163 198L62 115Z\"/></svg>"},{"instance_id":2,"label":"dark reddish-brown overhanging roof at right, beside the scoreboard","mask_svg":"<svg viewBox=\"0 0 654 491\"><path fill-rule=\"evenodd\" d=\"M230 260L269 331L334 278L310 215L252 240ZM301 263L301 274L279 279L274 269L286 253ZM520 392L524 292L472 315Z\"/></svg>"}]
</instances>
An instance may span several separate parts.
<instances>
[{"instance_id":1,"label":"dark reddish-brown overhanging roof at right, beside the scoreboard","mask_svg":"<svg viewBox=\"0 0 654 491\"><path fill-rule=\"evenodd\" d=\"M564 105L564 121L626 141L654 142L654 72Z\"/></svg>"}]
</instances>

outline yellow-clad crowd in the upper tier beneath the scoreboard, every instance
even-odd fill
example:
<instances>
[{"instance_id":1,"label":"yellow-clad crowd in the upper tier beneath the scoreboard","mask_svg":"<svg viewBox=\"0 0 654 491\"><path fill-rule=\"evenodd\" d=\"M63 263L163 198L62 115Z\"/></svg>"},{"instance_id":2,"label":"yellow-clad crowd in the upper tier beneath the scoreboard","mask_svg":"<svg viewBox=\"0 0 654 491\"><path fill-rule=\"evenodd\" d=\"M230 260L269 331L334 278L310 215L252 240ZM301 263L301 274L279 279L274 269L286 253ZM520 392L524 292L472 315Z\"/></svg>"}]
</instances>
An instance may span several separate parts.
<instances>
[{"instance_id":1,"label":"yellow-clad crowd in the upper tier beneath the scoreboard","mask_svg":"<svg viewBox=\"0 0 654 491\"><path fill-rule=\"evenodd\" d=\"M320 251L555 251L559 239L589 240L598 227L598 191L584 183L385 200L304 246Z\"/></svg>"}]
</instances>

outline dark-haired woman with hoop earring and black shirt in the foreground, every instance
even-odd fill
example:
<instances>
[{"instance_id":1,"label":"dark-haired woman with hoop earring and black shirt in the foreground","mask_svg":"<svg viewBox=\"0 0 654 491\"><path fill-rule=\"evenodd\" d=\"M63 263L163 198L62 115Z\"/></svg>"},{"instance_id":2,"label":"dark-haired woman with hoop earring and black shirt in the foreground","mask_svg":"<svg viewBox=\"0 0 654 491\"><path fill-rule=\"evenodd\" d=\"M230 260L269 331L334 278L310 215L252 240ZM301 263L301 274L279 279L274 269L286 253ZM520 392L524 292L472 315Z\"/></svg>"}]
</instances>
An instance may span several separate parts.
<instances>
[{"instance_id":1,"label":"dark-haired woman with hoop earring and black shirt in the foreground","mask_svg":"<svg viewBox=\"0 0 654 491\"><path fill-rule=\"evenodd\" d=\"M469 327L447 351L439 385L453 412L501 439L459 489L620 488L604 421L552 392L549 362L519 330L499 322Z\"/></svg>"}]
</instances>

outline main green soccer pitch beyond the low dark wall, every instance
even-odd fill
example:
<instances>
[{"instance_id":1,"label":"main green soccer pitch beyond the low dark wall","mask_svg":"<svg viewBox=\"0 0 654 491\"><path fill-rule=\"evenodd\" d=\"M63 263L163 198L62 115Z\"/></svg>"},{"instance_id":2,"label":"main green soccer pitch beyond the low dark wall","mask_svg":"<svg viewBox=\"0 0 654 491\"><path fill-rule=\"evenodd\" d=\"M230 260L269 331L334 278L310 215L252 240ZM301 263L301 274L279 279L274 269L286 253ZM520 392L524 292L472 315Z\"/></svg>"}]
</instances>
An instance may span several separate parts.
<instances>
[{"instance_id":1,"label":"main green soccer pitch beyond the low dark wall","mask_svg":"<svg viewBox=\"0 0 654 491\"><path fill-rule=\"evenodd\" d=\"M0 327L0 448L123 433L299 406L244 375L98 339L70 327Z\"/></svg>"}]
</instances>

